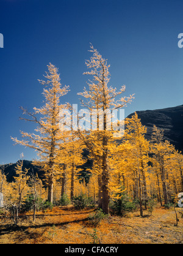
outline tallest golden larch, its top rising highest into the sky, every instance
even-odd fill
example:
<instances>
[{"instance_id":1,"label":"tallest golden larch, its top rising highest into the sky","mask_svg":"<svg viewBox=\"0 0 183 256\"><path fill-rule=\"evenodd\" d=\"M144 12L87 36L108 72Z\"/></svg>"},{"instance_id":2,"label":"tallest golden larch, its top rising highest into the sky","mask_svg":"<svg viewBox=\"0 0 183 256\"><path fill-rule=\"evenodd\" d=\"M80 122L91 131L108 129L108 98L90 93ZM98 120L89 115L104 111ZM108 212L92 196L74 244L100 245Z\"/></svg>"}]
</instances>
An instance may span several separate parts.
<instances>
[{"instance_id":1,"label":"tallest golden larch, its top rising highest into the sky","mask_svg":"<svg viewBox=\"0 0 183 256\"><path fill-rule=\"evenodd\" d=\"M111 141L114 140L112 130L107 128L107 111L115 108L122 108L128 102L131 102L133 96L121 97L117 100L120 94L125 91L125 86L121 86L120 91L109 86L110 73L107 60L102 58L99 52L90 45L90 52L93 56L85 62L90 71L85 72L85 75L91 75L92 81L88 81L88 90L84 88L84 92L79 95L85 100L81 103L87 107L90 113L95 110L102 110L102 129L90 130L90 132L79 130L79 137L84 141L85 146L92 154L93 159L99 159L101 164L101 190L102 190L102 211L109 213L109 154ZM96 127L97 128L97 127Z\"/></svg>"}]
</instances>

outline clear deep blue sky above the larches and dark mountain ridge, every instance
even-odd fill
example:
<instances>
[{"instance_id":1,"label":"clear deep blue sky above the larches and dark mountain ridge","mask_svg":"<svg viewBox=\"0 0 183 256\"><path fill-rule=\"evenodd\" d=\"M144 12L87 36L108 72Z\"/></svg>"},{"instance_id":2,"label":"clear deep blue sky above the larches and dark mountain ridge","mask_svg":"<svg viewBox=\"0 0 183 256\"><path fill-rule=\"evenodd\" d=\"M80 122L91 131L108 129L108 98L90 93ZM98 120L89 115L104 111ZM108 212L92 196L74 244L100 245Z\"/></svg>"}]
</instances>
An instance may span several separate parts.
<instances>
[{"instance_id":1,"label":"clear deep blue sky above the larches and dark mountain ridge","mask_svg":"<svg viewBox=\"0 0 183 256\"><path fill-rule=\"evenodd\" d=\"M16 162L21 152L27 160L36 156L13 146L10 136L34 132L33 124L18 120L19 107L43 105L37 79L49 62L59 67L62 84L70 85L63 102L79 104L90 42L111 65L111 85L126 85L126 96L135 93L125 116L182 105L182 10L182 0L1 0L0 164Z\"/></svg>"}]
</instances>

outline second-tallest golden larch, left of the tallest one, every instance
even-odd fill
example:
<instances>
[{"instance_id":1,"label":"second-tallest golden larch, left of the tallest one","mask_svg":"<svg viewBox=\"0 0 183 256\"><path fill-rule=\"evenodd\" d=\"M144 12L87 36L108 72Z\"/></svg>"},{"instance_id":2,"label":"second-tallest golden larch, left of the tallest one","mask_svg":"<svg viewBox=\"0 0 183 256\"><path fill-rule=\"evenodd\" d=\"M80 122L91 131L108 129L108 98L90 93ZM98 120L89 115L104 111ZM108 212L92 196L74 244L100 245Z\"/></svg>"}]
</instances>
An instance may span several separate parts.
<instances>
[{"instance_id":1,"label":"second-tallest golden larch, left of the tallest one","mask_svg":"<svg viewBox=\"0 0 183 256\"><path fill-rule=\"evenodd\" d=\"M29 118L20 118L26 121L35 122L37 128L36 133L29 134L21 131L23 140L12 138L16 144L23 145L35 149L38 154L38 160L35 164L41 165L46 173L46 181L48 183L48 201L52 202L54 175L57 175L57 158L60 143L62 143L63 131L59 127L60 110L68 108L68 104L60 104L60 97L67 94L69 86L62 86L60 83L60 74L56 66L49 63L48 72L46 72L45 80L38 80L45 86L43 96L45 97L45 105L41 108L34 107L31 113L21 107L23 114Z\"/></svg>"}]
</instances>

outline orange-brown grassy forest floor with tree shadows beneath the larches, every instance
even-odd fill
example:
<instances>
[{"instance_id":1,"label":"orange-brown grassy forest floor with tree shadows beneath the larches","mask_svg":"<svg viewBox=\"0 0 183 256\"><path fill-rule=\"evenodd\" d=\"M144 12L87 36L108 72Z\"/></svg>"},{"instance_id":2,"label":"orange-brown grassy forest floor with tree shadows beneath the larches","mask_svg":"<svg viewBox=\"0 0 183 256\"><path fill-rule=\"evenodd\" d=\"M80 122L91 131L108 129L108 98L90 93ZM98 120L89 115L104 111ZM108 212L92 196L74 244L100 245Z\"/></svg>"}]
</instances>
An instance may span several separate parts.
<instances>
[{"instance_id":1,"label":"orange-brown grassy forest floor with tree shadows beneath the larches","mask_svg":"<svg viewBox=\"0 0 183 256\"><path fill-rule=\"evenodd\" d=\"M12 220L0 218L0 244L183 244L183 218L174 209L157 206L149 216L144 211L124 217L109 216L95 228L88 216L95 209L76 210L73 206L58 206L20 215L18 226ZM181 209L177 208L181 211Z\"/></svg>"}]
</instances>

